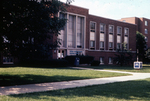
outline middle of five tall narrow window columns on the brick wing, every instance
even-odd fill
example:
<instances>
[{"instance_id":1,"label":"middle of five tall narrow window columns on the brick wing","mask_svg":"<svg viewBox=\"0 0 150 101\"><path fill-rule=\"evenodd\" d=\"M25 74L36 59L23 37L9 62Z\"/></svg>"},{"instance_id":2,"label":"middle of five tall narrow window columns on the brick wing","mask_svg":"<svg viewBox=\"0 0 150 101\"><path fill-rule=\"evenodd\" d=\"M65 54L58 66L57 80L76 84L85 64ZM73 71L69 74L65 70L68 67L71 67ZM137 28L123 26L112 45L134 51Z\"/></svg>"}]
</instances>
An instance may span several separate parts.
<instances>
[{"instance_id":1,"label":"middle of five tall narrow window columns on the brick wing","mask_svg":"<svg viewBox=\"0 0 150 101\"><path fill-rule=\"evenodd\" d=\"M109 43L108 43L109 50L113 50L113 34L114 34L114 26L109 25Z\"/></svg>"}]
</instances>

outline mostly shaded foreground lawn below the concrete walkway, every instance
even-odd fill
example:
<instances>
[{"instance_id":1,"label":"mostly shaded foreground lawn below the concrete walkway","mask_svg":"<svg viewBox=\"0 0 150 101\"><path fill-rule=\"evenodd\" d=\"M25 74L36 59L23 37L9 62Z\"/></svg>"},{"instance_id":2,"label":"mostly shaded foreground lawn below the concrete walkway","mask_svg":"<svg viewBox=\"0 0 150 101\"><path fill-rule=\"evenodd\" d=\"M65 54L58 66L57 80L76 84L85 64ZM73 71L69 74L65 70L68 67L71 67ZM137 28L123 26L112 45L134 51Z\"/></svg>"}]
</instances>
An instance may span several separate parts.
<instances>
[{"instance_id":1,"label":"mostly shaded foreground lawn below the concrete walkway","mask_svg":"<svg viewBox=\"0 0 150 101\"><path fill-rule=\"evenodd\" d=\"M69 98L73 99L77 97L83 98L80 100L88 100L89 97L97 97L99 100L101 97L113 98L111 100L148 100L150 98L149 84L150 79L147 79L41 93L11 95L10 97L19 99L29 98L30 100L45 99L46 101L56 100L57 98L69 100Z\"/></svg>"}]
</instances>

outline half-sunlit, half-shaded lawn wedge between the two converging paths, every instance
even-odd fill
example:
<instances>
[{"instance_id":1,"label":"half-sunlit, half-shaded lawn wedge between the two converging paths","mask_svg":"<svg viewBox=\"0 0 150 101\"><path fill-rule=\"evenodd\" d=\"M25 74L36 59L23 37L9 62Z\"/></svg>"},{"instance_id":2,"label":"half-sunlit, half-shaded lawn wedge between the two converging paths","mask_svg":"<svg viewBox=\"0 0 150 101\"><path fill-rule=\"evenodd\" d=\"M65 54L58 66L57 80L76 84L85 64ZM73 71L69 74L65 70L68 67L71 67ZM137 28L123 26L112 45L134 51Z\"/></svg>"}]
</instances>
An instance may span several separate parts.
<instances>
[{"instance_id":1,"label":"half-sunlit, half-shaded lawn wedge between the two converging paths","mask_svg":"<svg viewBox=\"0 0 150 101\"><path fill-rule=\"evenodd\" d=\"M79 79L125 76L129 74L109 73L93 70L76 70L71 68L0 68L0 86L59 82Z\"/></svg>"}]
</instances>

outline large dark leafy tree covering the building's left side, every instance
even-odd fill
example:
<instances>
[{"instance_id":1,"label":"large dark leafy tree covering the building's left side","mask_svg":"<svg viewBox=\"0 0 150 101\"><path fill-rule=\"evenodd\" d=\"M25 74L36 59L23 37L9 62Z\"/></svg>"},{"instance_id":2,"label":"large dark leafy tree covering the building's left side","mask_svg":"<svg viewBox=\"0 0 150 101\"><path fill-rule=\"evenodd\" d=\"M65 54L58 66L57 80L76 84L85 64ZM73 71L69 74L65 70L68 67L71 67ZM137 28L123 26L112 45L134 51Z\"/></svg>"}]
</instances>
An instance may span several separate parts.
<instances>
[{"instance_id":1,"label":"large dark leafy tree covering the building's left side","mask_svg":"<svg viewBox=\"0 0 150 101\"><path fill-rule=\"evenodd\" d=\"M58 47L58 35L66 19L58 12L65 5L58 0L3 0L0 26L1 51L20 59L48 58Z\"/></svg>"}]
</instances>

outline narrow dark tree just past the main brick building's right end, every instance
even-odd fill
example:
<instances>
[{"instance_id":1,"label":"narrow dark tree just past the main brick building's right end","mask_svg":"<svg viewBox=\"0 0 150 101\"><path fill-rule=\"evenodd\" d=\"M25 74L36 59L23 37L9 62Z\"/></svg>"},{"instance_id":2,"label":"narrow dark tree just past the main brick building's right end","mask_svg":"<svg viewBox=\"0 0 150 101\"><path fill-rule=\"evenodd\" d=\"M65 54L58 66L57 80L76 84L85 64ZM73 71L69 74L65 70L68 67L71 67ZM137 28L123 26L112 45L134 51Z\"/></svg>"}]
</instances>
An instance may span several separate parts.
<instances>
[{"instance_id":1,"label":"narrow dark tree just past the main brick building's right end","mask_svg":"<svg viewBox=\"0 0 150 101\"><path fill-rule=\"evenodd\" d=\"M145 36L140 33L136 32L136 49L138 50L138 57L139 60L143 60L145 58L145 48L146 48L146 41L145 41Z\"/></svg>"}]
</instances>

